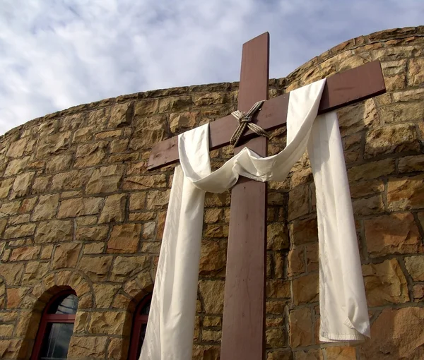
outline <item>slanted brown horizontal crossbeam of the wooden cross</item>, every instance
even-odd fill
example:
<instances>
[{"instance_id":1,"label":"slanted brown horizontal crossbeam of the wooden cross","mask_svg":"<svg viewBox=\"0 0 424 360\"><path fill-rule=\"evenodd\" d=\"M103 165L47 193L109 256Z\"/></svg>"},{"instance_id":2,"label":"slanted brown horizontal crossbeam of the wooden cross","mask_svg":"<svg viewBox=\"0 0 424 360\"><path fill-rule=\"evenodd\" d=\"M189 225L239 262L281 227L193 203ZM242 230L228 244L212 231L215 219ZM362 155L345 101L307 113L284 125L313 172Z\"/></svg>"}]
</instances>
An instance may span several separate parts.
<instances>
[{"instance_id":1,"label":"slanted brown horizontal crossbeam of the wooden cross","mask_svg":"<svg viewBox=\"0 0 424 360\"><path fill-rule=\"evenodd\" d=\"M386 92L386 88L381 65L379 61L371 61L363 66L358 66L358 68L327 78L319 104L319 114L370 99L384 94L384 92ZM283 126L287 116L288 97L289 93L265 102L254 121L266 130ZM209 147L213 150L230 143L232 133L237 128L237 120L232 115L228 115L212 121L209 126ZM252 131L247 131L242 141L254 136ZM148 161L148 169L158 169L177 162L177 143L178 137L174 136L155 145Z\"/></svg>"}]
</instances>

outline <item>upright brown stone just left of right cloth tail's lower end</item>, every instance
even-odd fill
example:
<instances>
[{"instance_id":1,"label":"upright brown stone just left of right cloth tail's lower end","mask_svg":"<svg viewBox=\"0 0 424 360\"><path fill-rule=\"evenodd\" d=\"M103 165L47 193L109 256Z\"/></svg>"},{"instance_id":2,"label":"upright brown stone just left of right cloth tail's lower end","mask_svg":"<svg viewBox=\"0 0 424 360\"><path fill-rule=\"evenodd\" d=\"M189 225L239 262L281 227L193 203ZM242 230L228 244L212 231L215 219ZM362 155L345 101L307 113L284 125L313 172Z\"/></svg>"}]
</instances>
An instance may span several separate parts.
<instances>
[{"instance_id":1,"label":"upright brown stone just left of right cloth tail's lower end","mask_svg":"<svg viewBox=\"0 0 424 360\"><path fill-rule=\"evenodd\" d=\"M288 316L290 326L289 341L291 347L312 345L312 313L310 308L296 308Z\"/></svg>"}]
</instances>

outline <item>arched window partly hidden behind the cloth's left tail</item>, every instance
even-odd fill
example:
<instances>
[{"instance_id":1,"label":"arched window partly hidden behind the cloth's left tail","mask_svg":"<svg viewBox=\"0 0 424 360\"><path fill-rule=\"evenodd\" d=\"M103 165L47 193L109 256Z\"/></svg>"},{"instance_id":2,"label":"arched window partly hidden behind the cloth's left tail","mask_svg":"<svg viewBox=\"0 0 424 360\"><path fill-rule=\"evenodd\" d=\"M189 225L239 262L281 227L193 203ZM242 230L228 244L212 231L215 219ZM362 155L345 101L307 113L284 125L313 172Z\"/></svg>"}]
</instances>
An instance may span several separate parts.
<instances>
[{"instance_id":1,"label":"arched window partly hidden behind the cloth's left tail","mask_svg":"<svg viewBox=\"0 0 424 360\"><path fill-rule=\"evenodd\" d=\"M148 295L137 305L134 313L133 328L131 331L131 342L128 360L139 360L141 345L146 335L148 311L150 310L152 296Z\"/></svg>"}]
</instances>

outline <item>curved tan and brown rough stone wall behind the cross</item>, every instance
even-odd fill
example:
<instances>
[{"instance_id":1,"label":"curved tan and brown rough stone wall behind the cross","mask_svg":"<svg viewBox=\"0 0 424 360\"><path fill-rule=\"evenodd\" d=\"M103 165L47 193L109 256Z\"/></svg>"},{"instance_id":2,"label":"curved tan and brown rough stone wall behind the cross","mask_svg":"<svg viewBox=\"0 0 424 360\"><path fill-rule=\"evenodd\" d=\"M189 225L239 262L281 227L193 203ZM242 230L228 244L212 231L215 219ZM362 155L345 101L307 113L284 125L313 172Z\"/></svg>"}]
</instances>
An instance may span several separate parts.
<instances>
[{"instance_id":1,"label":"curved tan and brown rough stone wall behind the cross","mask_svg":"<svg viewBox=\"0 0 424 360\"><path fill-rule=\"evenodd\" d=\"M317 56L271 97L382 61L387 94L338 112L372 339L320 344L317 222L307 156L269 184L267 359L424 358L424 28L358 37ZM0 358L28 359L45 304L79 298L69 359L126 359L151 292L172 167L152 145L236 108L237 83L155 90L47 115L0 139ZM270 154L283 148L274 131ZM214 150L213 167L232 156ZM219 357L230 193L206 197L194 359Z\"/></svg>"}]
</instances>

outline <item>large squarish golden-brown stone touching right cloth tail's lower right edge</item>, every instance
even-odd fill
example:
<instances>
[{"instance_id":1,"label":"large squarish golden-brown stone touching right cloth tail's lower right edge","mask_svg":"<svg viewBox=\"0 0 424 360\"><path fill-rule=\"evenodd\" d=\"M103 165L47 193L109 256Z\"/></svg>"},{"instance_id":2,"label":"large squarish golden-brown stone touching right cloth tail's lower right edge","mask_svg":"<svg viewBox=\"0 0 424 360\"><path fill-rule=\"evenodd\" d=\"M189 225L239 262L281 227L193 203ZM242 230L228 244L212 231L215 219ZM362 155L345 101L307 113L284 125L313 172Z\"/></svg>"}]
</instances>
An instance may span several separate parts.
<instances>
[{"instance_id":1,"label":"large squarish golden-brown stone touching right cloth tail's lower right edge","mask_svg":"<svg viewBox=\"0 0 424 360\"><path fill-rule=\"evenodd\" d=\"M408 283L398 260L363 265L368 306L401 304L409 301Z\"/></svg>"}]
</instances>

